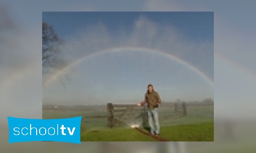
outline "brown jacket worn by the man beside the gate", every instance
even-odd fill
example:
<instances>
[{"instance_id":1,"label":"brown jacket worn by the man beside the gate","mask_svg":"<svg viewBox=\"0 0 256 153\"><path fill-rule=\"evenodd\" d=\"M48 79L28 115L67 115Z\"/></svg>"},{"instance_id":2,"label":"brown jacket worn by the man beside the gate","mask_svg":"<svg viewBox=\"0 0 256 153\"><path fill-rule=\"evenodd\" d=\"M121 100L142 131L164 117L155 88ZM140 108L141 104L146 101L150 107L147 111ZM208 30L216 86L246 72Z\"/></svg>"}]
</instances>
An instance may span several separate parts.
<instances>
[{"instance_id":1,"label":"brown jacket worn by the man beside the gate","mask_svg":"<svg viewBox=\"0 0 256 153\"><path fill-rule=\"evenodd\" d=\"M153 90L152 92L147 91L145 93L145 99L141 102L142 105L148 103L148 108L153 109L158 107L158 104L161 103L160 96L158 92Z\"/></svg>"}]
</instances>

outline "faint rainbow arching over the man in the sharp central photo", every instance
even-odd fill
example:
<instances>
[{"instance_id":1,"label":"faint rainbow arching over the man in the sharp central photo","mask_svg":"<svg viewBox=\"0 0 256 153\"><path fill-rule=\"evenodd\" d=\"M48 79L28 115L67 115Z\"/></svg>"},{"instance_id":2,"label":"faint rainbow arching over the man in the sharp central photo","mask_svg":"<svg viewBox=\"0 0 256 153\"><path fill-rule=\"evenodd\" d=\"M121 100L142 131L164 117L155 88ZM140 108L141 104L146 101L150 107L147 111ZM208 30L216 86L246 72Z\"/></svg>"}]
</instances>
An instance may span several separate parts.
<instances>
[{"instance_id":1,"label":"faint rainbow arching over the man in the sharp central photo","mask_svg":"<svg viewBox=\"0 0 256 153\"><path fill-rule=\"evenodd\" d=\"M83 60L89 59L89 58L93 58L95 56L104 54L104 53L108 53L108 52L120 52L120 51L124 51L124 50L129 50L129 51L143 51L143 52L151 52L151 53L158 53L161 55L164 55L170 59L173 59L175 61L177 61L178 63L188 67L189 69L193 70L194 72L196 72L200 77L202 77L205 81L207 81L211 86L213 86L213 80L211 80L204 72L202 72L200 69L198 69L197 67L193 66L192 64L186 62L185 60L170 54L170 53L166 53L163 52L161 50L157 50L157 49L151 49L151 48L146 48L146 47L114 47L114 48L108 48L108 49L104 49L101 51L97 51L95 53L91 53L85 56L82 56L81 58L76 59L75 61L69 63L68 65L66 65L64 68L56 71L54 74L52 74L49 78L46 79L46 81L43 82L43 87L48 86L52 81L56 80L60 75L62 75L63 73L65 73L65 71L67 71L69 68L79 64L80 62L82 62Z\"/></svg>"}]
</instances>

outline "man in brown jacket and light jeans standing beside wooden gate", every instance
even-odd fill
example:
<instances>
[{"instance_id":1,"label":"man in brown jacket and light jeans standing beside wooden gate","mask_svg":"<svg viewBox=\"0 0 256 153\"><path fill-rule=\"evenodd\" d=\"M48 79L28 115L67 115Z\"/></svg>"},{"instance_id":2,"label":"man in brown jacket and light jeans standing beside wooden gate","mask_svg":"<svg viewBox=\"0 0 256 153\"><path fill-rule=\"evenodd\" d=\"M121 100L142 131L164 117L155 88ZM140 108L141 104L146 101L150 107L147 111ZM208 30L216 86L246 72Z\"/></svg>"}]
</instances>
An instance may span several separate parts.
<instances>
[{"instance_id":1,"label":"man in brown jacket and light jeans standing beside wooden gate","mask_svg":"<svg viewBox=\"0 0 256 153\"><path fill-rule=\"evenodd\" d=\"M160 96L158 92L154 90L154 87L152 84L148 85L147 92L145 93L145 99L144 101L138 103L138 106L148 104L148 115L149 115L149 124L150 124L150 132L153 135L159 135L160 134L160 124L159 124L159 118L158 118L158 105L161 103ZM154 126L154 122L156 123L156 128Z\"/></svg>"}]
</instances>

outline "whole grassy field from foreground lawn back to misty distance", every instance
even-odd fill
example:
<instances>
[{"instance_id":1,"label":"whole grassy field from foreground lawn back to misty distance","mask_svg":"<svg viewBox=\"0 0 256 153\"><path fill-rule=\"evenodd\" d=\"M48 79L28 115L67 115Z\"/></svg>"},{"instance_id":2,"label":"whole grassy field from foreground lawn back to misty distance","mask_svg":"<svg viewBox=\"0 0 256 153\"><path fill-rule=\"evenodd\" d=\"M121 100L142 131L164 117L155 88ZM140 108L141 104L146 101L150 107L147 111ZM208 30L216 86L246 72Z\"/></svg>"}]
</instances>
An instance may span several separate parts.
<instances>
[{"instance_id":1,"label":"whole grassy field from foreground lawn back to misty distance","mask_svg":"<svg viewBox=\"0 0 256 153\"><path fill-rule=\"evenodd\" d=\"M159 137L169 141L213 141L213 106L188 106L187 110L187 116L180 116L174 115L173 107L160 107L161 135ZM124 121L117 120L113 128L108 127L106 117L90 118L94 115L106 115L106 111L96 108L86 111L43 110L44 119L82 116L81 141L156 141L154 138L130 128L129 125L141 122L144 127L148 127L147 113L146 119L139 118L141 121L138 121L136 117Z\"/></svg>"}]
</instances>

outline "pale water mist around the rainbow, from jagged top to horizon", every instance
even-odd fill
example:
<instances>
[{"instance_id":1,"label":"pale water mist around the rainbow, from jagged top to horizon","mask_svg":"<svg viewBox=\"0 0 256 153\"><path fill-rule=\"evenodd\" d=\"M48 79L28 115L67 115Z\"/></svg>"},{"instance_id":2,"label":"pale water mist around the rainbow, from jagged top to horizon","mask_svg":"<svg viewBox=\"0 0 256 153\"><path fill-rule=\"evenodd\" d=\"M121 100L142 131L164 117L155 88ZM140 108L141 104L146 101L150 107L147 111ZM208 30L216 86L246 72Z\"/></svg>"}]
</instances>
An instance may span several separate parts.
<instances>
[{"instance_id":1,"label":"pale water mist around the rainbow, from jagged top to horizon","mask_svg":"<svg viewBox=\"0 0 256 153\"><path fill-rule=\"evenodd\" d=\"M61 13L57 14L61 17ZM77 12L72 14L75 17ZM131 25L129 28L115 25L117 29L113 31L99 21L65 36L65 44L60 48L67 65L61 65L60 69L68 68L43 73L43 103L136 103L144 100L147 84L154 82L163 101L213 98L213 86L201 74L166 55L159 55L176 56L213 80L213 41L191 40L171 24L152 21L143 14ZM134 51L129 47L146 49ZM111 53L115 48L120 49ZM91 54L95 55L81 60L81 57ZM69 67L77 60L80 60L78 64ZM154 69L153 74L145 68L148 66ZM65 80L67 76L69 79Z\"/></svg>"}]
</instances>

